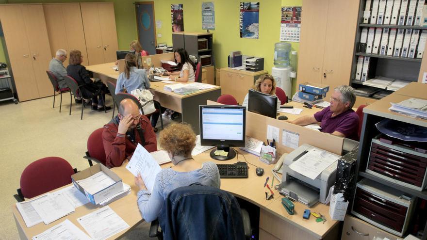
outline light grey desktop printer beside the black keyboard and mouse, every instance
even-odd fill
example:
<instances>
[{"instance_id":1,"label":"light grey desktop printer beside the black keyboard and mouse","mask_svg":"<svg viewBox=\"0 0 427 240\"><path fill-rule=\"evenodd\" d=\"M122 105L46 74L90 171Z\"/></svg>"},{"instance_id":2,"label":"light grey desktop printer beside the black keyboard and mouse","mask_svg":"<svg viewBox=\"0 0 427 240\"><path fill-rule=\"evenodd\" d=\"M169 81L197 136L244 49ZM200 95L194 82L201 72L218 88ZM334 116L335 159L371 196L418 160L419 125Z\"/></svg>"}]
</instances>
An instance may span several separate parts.
<instances>
[{"instance_id":1,"label":"light grey desktop printer beside the black keyboard and mouse","mask_svg":"<svg viewBox=\"0 0 427 240\"><path fill-rule=\"evenodd\" d=\"M336 160L323 170L322 173L314 180L292 170L289 167L289 165L303 157L312 149L324 151L332 155L332 157L336 157ZM295 201L299 201L310 208L317 202L326 203L329 189L335 183L339 158L339 155L313 147L309 144L302 144L284 157L282 166L282 182L279 185L279 191L287 197Z\"/></svg>"}]
</instances>

